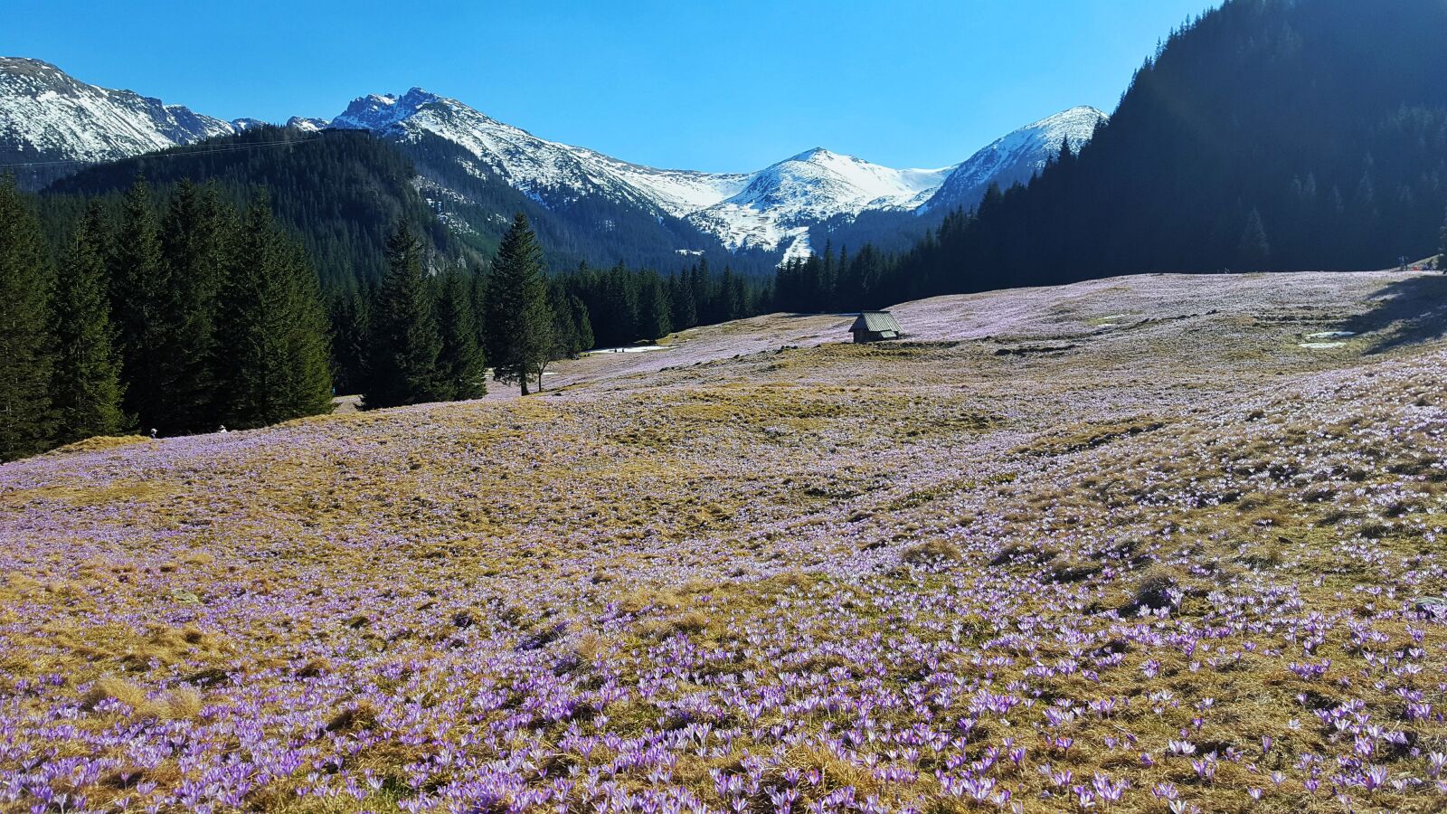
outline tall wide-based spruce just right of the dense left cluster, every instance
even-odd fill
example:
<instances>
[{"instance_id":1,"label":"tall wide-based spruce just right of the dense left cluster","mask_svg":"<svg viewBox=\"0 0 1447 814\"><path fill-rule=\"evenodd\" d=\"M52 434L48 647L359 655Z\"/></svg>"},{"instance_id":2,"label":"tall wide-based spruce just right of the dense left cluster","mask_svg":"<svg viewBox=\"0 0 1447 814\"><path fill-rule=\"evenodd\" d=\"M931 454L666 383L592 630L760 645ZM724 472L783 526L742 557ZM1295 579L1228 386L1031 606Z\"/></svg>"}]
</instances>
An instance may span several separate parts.
<instances>
[{"instance_id":1,"label":"tall wide-based spruce just right of the dense left cluster","mask_svg":"<svg viewBox=\"0 0 1447 814\"><path fill-rule=\"evenodd\" d=\"M423 245L404 220L386 242L388 268L372 307L368 408L446 398L441 333L423 272Z\"/></svg>"}]
</instances>

